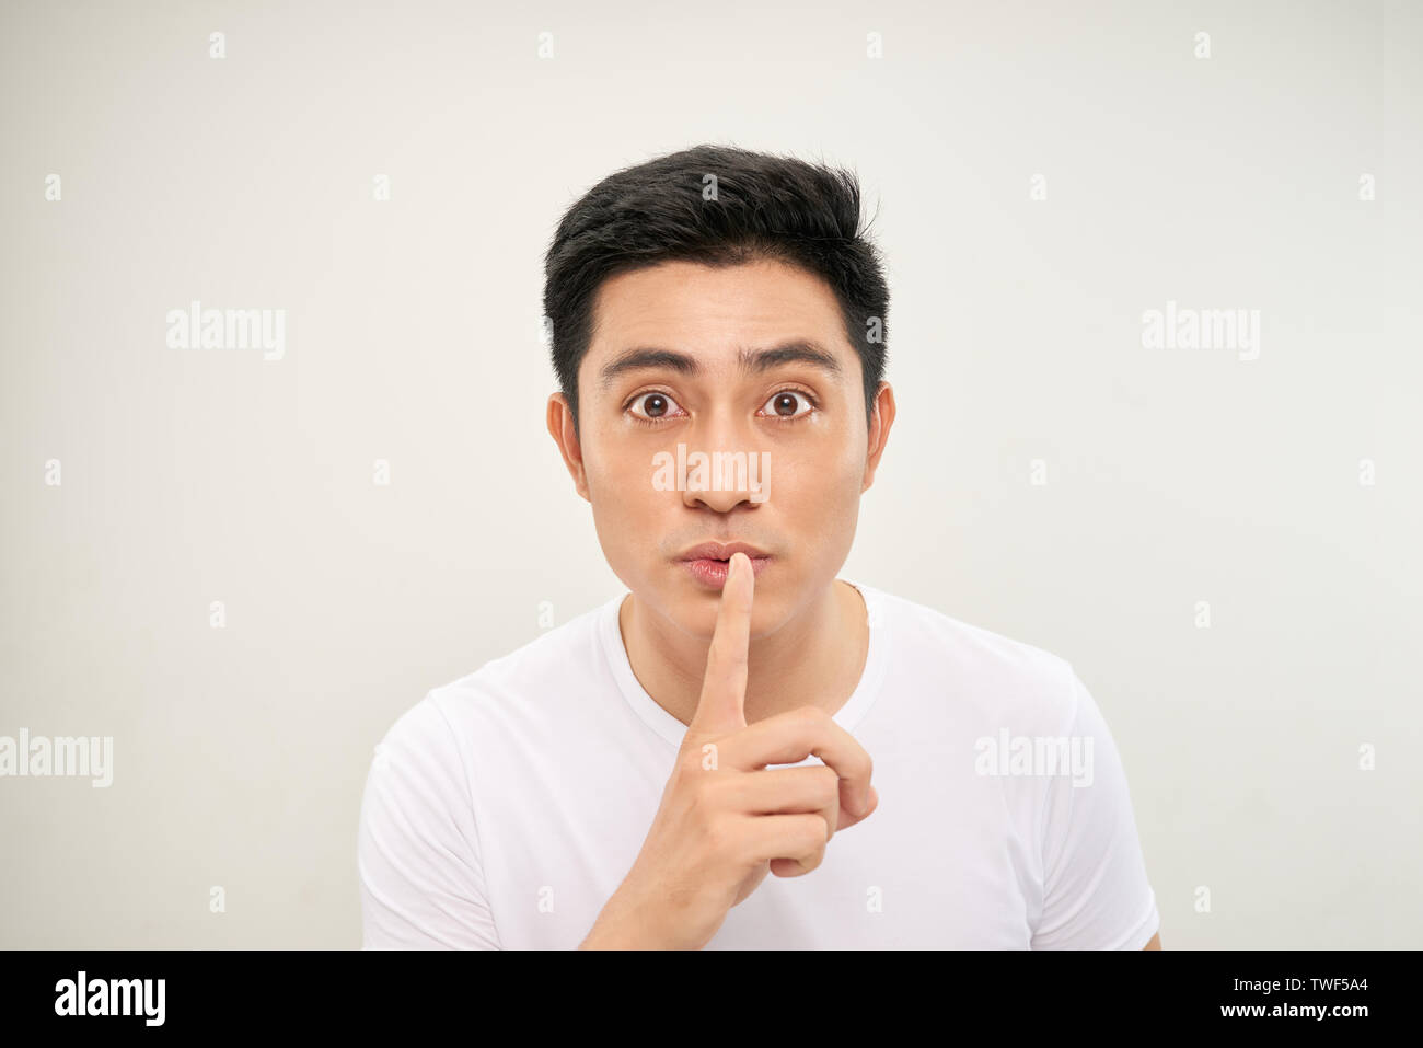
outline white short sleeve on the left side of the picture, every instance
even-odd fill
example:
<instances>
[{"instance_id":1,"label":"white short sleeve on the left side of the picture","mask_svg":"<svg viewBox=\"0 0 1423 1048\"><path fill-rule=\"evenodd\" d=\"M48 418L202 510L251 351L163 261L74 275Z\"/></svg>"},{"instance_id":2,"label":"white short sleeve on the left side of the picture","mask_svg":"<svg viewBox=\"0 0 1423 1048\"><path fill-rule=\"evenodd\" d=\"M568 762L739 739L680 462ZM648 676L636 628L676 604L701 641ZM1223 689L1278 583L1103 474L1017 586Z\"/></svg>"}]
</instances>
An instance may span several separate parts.
<instances>
[{"instance_id":1,"label":"white short sleeve on the left side of the picture","mask_svg":"<svg viewBox=\"0 0 1423 1048\"><path fill-rule=\"evenodd\" d=\"M356 866L366 950L498 950L468 776L431 696L376 746Z\"/></svg>"}]
</instances>

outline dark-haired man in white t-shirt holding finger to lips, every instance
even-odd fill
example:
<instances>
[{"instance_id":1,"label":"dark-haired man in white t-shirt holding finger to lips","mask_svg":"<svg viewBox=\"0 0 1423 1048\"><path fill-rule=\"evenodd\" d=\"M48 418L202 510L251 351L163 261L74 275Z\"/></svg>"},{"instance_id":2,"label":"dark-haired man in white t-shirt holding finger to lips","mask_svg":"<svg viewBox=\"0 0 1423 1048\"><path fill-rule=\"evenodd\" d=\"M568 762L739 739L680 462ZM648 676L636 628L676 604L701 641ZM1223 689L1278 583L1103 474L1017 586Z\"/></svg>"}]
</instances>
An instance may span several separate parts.
<instances>
[{"instance_id":1,"label":"dark-haired man in white t-shirt holding finger to lips","mask_svg":"<svg viewBox=\"0 0 1423 1048\"><path fill-rule=\"evenodd\" d=\"M629 592L390 729L367 947L1160 948L1072 666L835 577L895 417L859 222L727 147L564 216L548 429Z\"/></svg>"}]
</instances>

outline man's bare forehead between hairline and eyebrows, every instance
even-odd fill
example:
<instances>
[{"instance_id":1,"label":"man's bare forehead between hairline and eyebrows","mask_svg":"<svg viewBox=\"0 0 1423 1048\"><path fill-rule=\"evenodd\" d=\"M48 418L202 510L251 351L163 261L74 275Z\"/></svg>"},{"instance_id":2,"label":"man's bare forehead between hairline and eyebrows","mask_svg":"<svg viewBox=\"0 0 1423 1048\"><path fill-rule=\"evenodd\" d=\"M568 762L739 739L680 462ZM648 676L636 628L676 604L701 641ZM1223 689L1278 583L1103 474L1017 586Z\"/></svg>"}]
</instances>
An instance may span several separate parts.
<instances>
[{"instance_id":1,"label":"man's bare forehead between hairline and eyebrows","mask_svg":"<svg viewBox=\"0 0 1423 1048\"><path fill-rule=\"evenodd\" d=\"M747 349L810 342L840 362L858 357L830 286L797 266L756 261L734 266L662 262L609 278L593 300L593 335L579 367L596 392L602 370L633 349L697 357L730 370Z\"/></svg>"}]
</instances>

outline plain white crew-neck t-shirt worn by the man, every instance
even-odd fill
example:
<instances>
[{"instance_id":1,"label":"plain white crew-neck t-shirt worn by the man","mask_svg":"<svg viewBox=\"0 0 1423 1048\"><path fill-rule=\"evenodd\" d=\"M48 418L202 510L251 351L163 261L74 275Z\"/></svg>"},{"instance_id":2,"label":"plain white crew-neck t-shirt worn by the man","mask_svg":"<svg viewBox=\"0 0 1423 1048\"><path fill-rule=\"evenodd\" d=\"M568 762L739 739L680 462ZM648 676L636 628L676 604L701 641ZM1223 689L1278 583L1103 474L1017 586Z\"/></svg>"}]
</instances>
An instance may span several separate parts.
<instances>
[{"instance_id":1,"label":"plain white crew-neck t-shirt worn by the man","mask_svg":"<svg viewBox=\"0 0 1423 1048\"><path fill-rule=\"evenodd\" d=\"M707 948L1143 948L1158 916L1127 780L1072 665L852 585L869 652L835 720L874 760L879 806L811 873L768 874ZM625 595L434 689L376 748L366 948L582 943L686 732L632 672ZM1033 763L1035 739L1090 763Z\"/></svg>"}]
</instances>

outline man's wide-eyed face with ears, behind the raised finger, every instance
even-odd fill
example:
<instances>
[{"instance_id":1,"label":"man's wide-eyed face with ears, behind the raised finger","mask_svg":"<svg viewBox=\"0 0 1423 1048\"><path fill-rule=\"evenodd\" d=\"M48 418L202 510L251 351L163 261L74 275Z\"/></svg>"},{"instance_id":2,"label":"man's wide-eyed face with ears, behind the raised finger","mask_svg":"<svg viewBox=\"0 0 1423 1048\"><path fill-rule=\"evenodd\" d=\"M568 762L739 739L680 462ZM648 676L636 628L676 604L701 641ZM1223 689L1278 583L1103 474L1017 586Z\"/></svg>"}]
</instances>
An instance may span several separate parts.
<instances>
[{"instance_id":1,"label":"man's wide-eyed face with ears, behind the raised finger","mask_svg":"<svg viewBox=\"0 0 1423 1048\"><path fill-rule=\"evenodd\" d=\"M787 346L827 362L754 363ZM682 367L667 359L628 367L636 350L676 355ZM710 636L721 584L714 567L683 560L709 541L767 554L757 564L753 636L825 592L850 552L884 440L871 454L859 357L820 278L768 261L665 262L613 276L598 293L578 397L578 440L552 403L549 427L593 507L609 565L639 602ZM746 470L714 471L717 451L740 453ZM697 453L707 459L700 473ZM682 463L687 490L677 490Z\"/></svg>"}]
</instances>

